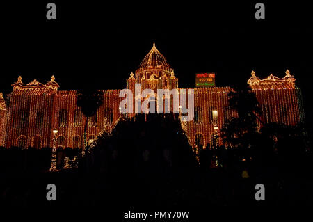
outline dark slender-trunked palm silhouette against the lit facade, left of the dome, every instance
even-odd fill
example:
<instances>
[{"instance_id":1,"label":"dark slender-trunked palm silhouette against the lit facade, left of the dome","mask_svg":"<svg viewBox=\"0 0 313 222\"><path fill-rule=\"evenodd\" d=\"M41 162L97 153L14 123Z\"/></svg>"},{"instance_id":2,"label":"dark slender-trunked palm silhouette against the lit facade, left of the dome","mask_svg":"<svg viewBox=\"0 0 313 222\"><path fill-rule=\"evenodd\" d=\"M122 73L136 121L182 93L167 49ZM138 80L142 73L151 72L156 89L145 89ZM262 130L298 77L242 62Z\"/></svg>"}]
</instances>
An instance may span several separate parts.
<instances>
[{"instance_id":1,"label":"dark slender-trunked palm silhouette against the lit facade, left of the dome","mask_svg":"<svg viewBox=\"0 0 313 222\"><path fill-rule=\"evenodd\" d=\"M87 125L88 120L90 117L95 116L97 113L97 110L100 106L103 104L103 91L102 90L93 90L90 88L84 88L82 90L77 91L77 106L81 108L81 112L83 113L83 116L85 116L85 127L83 130L83 152L82 156L85 154L85 148L87 146L87 138L86 138L86 132L87 132Z\"/></svg>"}]
</instances>

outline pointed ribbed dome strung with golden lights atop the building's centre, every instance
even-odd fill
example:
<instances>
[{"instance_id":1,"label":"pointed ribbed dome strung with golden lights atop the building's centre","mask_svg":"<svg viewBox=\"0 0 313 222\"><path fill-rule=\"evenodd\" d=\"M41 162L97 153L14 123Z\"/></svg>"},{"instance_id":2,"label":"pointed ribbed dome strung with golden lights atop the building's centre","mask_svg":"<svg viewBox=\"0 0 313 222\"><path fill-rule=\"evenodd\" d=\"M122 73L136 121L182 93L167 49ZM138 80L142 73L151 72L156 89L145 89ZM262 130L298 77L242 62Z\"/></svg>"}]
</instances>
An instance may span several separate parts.
<instances>
[{"instance_id":1,"label":"pointed ribbed dome strung with golden lights atop the building's centre","mask_svg":"<svg viewBox=\"0 0 313 222\"><path fill-rule=\"evenodd\" d=\"M157 47L155 47L155 44L153 43L152 49L145 56L145 58L143 58L143 61L141 62L139 68L145 69L158 66L163 66L163 68L170 68L170 65L168 65L168 62L166 61L166 58L159 52L159 50L157 49Z\"/></svg>"}]
</instances>

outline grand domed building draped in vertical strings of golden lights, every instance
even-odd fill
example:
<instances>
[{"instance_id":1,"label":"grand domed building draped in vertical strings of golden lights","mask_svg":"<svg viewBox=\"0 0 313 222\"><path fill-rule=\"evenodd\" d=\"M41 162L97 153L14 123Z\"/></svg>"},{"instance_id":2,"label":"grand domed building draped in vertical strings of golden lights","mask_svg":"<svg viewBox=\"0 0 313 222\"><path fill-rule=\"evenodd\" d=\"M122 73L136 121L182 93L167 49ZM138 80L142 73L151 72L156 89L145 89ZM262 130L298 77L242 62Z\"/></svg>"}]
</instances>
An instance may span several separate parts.
<instances>
[{"instance_id":1,"label":"grand domed building draped in vertical strings of golden lights","mask_svg":"<svg viewBox=\"0 0 313 222\"><path fill-rule=\"evenodd\" d=\"M212 74L198 74L198 77L204 77L206 81L205 78L212 77L210 75ZM255 72L252 72L248 84L262 106L262 122L280 122L286 125L303 122L300 90L295 86L295 81L288 70L282 79L273 74L266 79L259 79ZM203 79L197 79L196 82L200 82L196 84L200 87L184 89L186 94L191 89L194 90L194 118L182 122L182 128L193 148L199 144L205 147L207 143L221 145L223 141L217 136L220 129L227 119L236 116L236 112L228 105L227 94L232 89L216 87L212 83L205 84ZM141 84L141 90L176 88L182 92L182 88L178 88L174 71L155 45L143 58L135 74L131 73L127 79L127 88L133 92L135 84ZM36 80L24 84L19 77L12 86L13 91L7 95L7 102L4 102L3 95L0 94L1 146L52 147L56 138L57 148L83 147L85 117L77 106L76 90L58 90L59 85L53 76L47 84ZM119 93L118 89L104 90L104 104L88 121L87 141L95 139L102 132L111 132L125 116L119 110L119 104L125 97L119 97ZM53 129L58 130L56 135Z\"/></svg>"}]
</instances>

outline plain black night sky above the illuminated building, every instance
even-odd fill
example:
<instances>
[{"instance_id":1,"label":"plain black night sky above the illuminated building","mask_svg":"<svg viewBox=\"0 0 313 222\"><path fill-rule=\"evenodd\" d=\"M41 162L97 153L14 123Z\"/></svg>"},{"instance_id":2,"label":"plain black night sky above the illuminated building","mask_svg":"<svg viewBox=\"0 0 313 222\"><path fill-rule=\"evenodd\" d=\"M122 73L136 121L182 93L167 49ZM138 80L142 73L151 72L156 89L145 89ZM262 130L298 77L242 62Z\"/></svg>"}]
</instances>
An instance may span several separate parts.
<instances>
[{"instance_id":1,"label":"plain black night sky above the illuminated building","mask_svg":"<svg viewBox=\"0 0 313 222\"><path fill-rule=\"evenodd\" d=\"M194 87L196 72L216 72L216 86L236 86L251 70L265 78L284 77L289 69L312 125L313 13L307 1L52 1L56 21L46 19L51 1L21 2L0 6L3 93L19 75L26 84L45 84L54 74L60 90L125 88L155 42L179 87ZM265 20L255 19L257 2L265 4Z\"/></svg>"}]
</instances>

